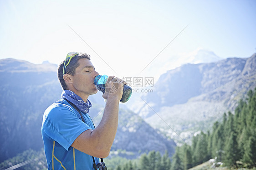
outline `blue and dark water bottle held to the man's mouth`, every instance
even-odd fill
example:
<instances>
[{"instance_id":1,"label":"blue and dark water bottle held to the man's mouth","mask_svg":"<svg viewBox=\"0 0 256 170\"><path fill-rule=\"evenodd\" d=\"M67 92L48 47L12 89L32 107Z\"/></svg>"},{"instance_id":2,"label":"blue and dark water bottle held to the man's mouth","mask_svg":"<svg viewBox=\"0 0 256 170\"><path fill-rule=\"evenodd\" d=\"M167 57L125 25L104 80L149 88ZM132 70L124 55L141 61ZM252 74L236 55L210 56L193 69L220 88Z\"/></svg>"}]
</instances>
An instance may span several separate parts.
<instances>
[{"instance_id":1,"label":"blue and dark water bottle held to the man's mouth","mask_svg":"<svg viewBox=\"0 0 256 170\"><path fill-rule=\"evenodd\" d=\"M94 84L96 86L96 88L101 91L101 92L105 92L106 86L105 83L107 82L108 76L107 75L97 75L96 78L94 78ZM111 89L108 90L108 92L115 92L118 89L118 83L114 83L113 87ZM109 87L110 88L110 87ZM123 95L122 98L120 100L120 102L125 103L129 100L129 98L132 95L132 88L127 86L126 84L123 85Z\"/></svg>"}]
</instances>

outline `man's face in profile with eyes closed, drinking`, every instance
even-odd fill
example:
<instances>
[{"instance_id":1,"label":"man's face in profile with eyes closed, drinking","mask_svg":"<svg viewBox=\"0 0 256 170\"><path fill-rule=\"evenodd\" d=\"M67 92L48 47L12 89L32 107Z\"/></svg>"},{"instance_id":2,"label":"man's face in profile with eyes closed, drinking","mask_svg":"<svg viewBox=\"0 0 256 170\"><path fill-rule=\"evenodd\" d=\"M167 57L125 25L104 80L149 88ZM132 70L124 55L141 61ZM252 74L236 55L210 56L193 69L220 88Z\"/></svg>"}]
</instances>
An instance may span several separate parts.
<instances>
[{"instance_id":1,"label":"man's face in profile with eyes closed, drinking","mask_svg":"<svg viewBox=\"0 0 256 170\"><path fill-rule=\"evenodd\" d=\"M87 58L81 58L78 60L78 64L79 66L76 68L74 76L72 76L75 93L80 97L97 93L93 81L99 74L95 71L91 61Z\"/></svg>"}]
</instances>

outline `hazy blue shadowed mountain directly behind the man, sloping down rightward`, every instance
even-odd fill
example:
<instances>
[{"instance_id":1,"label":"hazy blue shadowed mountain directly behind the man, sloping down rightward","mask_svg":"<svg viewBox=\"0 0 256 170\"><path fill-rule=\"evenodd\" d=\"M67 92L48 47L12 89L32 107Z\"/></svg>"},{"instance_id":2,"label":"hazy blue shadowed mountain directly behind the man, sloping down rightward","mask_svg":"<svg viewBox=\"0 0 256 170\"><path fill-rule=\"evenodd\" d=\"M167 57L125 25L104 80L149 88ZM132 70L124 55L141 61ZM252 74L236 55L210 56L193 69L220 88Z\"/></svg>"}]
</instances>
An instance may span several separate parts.
<instances>
[{"instance_id":1,"label":"hazy blue shadowed mountain directly behind the man, sloping down rightward","mask_svg":"<svg viewBox=\"0 0 256 170\"><path fill-rule=\"evenodd\" d=\"M40 150L42 116L47 107L61 98L57 65L33 64L12 58L0 60L0 162L27 149ZM102 93L89 97L93 107L89 115L99 122L104 100ZM123 109L122 109L123 108ZM119 125L112 151L127 150L138 156L157 149L174 153L175 143L167 140L142 118L121 106ZM147 139L147 140L145 140Z\"/></svg>"}]
</instances>

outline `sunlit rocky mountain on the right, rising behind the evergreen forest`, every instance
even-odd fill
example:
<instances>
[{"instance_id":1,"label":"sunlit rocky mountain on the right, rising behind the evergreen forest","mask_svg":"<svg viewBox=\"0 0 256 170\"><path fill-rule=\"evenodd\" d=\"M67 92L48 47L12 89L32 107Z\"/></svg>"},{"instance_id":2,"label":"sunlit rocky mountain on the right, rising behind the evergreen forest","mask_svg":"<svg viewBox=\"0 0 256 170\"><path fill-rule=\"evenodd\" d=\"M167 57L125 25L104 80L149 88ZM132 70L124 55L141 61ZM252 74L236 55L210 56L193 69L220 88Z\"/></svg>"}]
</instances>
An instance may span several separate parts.
<instances>
[{"instance_id":1,"label":"sunlit rocky mountain on the right, rising behind the evergreen forest","mask_svg":"<svg viewBox=\"0 0 256 170\"><path fill-rule=\"evenodd\" d=\"M256 54L188 63L162 74L154 92L145 93L131 108L155 129L184 143L196 131L208 130L224 112L233 111L255 87Z\"/></svg>"}]
</instances>

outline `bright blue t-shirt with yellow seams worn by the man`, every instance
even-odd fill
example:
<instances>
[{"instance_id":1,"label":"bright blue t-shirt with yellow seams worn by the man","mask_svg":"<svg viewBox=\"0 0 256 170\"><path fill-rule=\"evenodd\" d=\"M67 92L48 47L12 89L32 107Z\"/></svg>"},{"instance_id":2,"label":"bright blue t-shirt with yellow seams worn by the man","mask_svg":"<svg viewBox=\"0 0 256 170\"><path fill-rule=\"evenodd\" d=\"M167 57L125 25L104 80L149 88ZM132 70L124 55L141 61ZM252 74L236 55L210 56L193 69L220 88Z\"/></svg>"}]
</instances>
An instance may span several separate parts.
<instances>
[{"instance_id":1,"label":"bright blue t-shirt with yellow seams worn by the man","mask_svg":"<svg viewBox=\"0 0 256 170\"><path fill-rule=\"evenodd\" d=\"M94 129L89 115L81 114L85 123L77 110L64 99L46 109L41 133L48 170L92 170L92 156L71 146L83 131ZM97 165L99 159L94 159Z\"/></svg>"}]
</instances>

